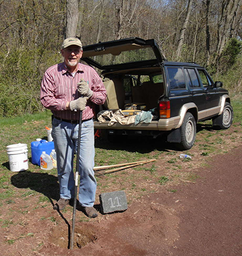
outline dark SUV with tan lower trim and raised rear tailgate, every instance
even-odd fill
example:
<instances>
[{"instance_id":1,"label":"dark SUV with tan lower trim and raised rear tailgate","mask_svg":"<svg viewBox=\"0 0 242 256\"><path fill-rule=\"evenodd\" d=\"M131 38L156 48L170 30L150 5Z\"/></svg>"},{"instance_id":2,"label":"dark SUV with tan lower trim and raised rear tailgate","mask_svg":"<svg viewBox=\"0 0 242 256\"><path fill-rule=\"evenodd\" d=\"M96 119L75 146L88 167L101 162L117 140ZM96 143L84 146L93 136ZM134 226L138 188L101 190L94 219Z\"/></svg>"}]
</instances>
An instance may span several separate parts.
<instances>
[{"instance_id":1,"label":"dark SUV with tan lower trim and raised rear tailgate","mask_svg":"<svg viewBox=\"0 0 242 256\"><path fill-rule=\"evenodd\" d=\"M107 99L96 117L116 110L129 119L136 115L129 124L96 119L94 127L106 129L111 138L165 135L168 142L186 150L194 145L197 122L212 119L220 129L232 124L231 99L223 84L214 82L198 64L167 61L154 39L87 45L82 61L100 71L106 87Z\"/></svg>"}]
</instances>

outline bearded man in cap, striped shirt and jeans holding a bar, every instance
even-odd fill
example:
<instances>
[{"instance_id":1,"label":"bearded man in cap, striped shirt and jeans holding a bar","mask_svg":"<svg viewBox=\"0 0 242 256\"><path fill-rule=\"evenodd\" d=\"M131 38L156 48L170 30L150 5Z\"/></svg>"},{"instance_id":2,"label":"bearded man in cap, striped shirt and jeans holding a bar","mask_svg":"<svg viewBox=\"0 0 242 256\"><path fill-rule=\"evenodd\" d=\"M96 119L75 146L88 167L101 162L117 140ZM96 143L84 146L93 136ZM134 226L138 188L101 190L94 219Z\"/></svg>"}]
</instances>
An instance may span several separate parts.
<instances>
[{"instance_id":1,"label":"bearded man in cap, striped shirt and jeans holding a bar","mask_svg":"<svg viewBox=\"0 0 242 256\"><path fill-rule=\"evenodd\" d=\"M96 179L94 177L94 106L102 105L106 90L96 71L80 64L82 43L67 38L62 44L64 62L45 71L41 84L41 102L53 113L52 137L56 149L60 199L54 209L62 210L74 198L73 159L77 150L79 111L82 112L82 130L79 159L79 203L82 211L91 218L97 217L94 209Z\"/></svg>"}]
</instances>

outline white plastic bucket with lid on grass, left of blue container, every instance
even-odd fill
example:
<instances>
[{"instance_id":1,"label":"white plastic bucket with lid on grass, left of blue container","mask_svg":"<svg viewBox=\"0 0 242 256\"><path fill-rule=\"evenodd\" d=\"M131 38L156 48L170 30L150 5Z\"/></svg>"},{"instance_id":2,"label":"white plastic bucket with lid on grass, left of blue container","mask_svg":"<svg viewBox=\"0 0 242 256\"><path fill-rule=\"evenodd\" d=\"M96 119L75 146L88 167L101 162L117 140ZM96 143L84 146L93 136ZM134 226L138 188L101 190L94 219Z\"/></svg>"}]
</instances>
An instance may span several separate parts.
<instances>
[{"instance_id":1,"label":"white plastic bucket with lid on grass, left of blue container","mask_svg":"<svg viewBox=\"0 0 242 256\"><path fill-rule=\"evenodd\" d=\"M28 169L28 146L27 144L13 144L7 146L10 171L25 171Z\"/></svg>"}]
</instances>

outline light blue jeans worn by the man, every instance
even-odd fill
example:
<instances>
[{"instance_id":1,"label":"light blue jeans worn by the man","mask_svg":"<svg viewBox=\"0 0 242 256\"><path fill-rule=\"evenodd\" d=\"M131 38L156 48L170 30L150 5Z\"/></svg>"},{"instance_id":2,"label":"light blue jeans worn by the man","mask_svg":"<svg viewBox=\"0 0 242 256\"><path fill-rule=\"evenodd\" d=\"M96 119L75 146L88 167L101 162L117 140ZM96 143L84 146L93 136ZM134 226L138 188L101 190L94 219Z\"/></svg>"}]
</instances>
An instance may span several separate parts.
<instances>
[{"instance_id":1,"label":"light blue jeans worn by the man","mask_svg":"<svg viewBox=\"0 0 242 256\"><path fill-rule=\"evenodd\" d=\"M73 159L77 151L78 124L53 119L52 137L56 149L57 173L60 185L60 198L74 198ZM94 177L94 125L93 120L82 122L79 159L79 202L82 206L93 206L97 182Z\"/></svg>"}]
</instances>

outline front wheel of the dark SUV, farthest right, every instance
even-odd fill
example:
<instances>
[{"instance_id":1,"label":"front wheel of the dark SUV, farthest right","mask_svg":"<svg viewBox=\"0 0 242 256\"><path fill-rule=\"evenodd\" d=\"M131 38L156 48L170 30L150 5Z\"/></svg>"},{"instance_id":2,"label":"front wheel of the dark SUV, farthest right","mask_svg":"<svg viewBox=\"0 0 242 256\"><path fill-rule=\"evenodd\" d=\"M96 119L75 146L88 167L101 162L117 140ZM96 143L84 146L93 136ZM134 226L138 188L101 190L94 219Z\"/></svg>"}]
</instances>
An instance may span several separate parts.
<instances>
[{"instance_id":1,"label":"front wheel of the dark SUV, farthest right","mask_svg":"<svg viewBox=\"0 0 242 256\"><path fill-rule=\"evenodd\" d=\"M233 122L234 111L230 103L226 102L224 105L223 113L212 120L213 126L222 130L228 129Z\"/></svg>"}]
</instances>

